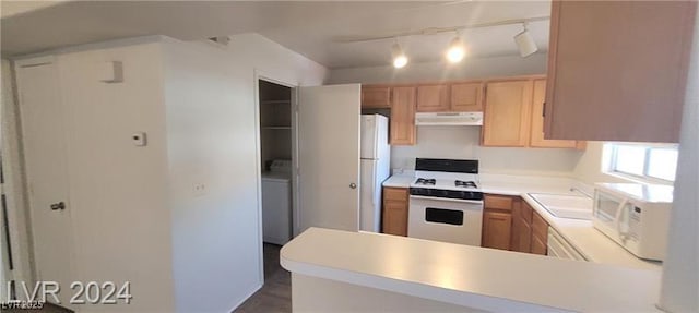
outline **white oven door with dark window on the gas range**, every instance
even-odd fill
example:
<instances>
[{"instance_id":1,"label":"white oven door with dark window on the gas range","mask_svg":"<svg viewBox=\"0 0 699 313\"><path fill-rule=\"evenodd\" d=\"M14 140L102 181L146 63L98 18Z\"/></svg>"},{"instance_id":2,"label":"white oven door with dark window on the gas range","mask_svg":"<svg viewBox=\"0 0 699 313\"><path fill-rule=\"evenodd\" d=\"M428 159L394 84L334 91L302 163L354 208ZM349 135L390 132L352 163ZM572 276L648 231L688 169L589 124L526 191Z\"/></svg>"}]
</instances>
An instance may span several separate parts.
<instances>
[{"instance_id":1,"label":"white oven door with dark window on the gas range","mask_svg":"<svg viewBox=\"0 0 699 313\"><path fill-rule=\"evenodd\" d=\"M481 245L483 201L411 195L407 237Z\"/></svg>"}]
</instances>

